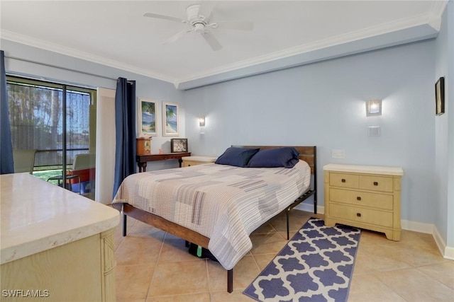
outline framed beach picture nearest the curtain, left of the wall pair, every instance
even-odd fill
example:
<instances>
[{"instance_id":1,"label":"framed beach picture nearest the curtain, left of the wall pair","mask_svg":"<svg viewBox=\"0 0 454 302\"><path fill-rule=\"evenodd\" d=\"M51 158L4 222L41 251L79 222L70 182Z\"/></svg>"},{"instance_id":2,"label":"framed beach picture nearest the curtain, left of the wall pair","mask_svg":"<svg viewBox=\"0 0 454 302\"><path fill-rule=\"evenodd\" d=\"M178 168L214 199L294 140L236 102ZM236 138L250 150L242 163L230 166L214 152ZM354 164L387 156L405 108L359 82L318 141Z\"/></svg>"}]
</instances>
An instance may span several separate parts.
<instances>
[{"instance_id":1,"label":"framed beach picture nearest the curtain, left of the wall pair","mask_svg":"<svg viewBox=\"0 0 454 302\"><path fill-rule=\"evenodd\" d=\"M138 98L137 111L140 135L157 135L156 105L156 101L150 98Z\"/></svg>"}]
</instances>

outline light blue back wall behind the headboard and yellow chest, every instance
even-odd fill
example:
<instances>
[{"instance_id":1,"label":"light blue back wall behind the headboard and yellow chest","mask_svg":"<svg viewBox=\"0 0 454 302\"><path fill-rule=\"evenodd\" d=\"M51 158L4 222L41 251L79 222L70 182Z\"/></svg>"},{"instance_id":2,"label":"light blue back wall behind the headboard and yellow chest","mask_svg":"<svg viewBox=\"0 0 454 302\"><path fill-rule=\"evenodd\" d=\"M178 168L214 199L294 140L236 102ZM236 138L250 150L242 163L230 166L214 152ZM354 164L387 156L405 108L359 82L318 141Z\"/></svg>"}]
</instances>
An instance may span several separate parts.
<instances>
[{"instance_id":1,"label":"light blue back wall behind the headboard and yellow chest","mask_svg":"<svg viewBox=\"0 0 454 302\"><path fill-rule=\"evenodd\" d=\"M195 88L185 93L192 152L218 155L231 144L316 145L319 204L327 163L404 169L402 219L433 223L435 42L392 47ZM365 100L383 100L366 117ZM196 118L205 115L204 134ZM368 137L380 126L380 137ZM345 159L331 158L344 149Z\"/></svg>"}]
</instances>

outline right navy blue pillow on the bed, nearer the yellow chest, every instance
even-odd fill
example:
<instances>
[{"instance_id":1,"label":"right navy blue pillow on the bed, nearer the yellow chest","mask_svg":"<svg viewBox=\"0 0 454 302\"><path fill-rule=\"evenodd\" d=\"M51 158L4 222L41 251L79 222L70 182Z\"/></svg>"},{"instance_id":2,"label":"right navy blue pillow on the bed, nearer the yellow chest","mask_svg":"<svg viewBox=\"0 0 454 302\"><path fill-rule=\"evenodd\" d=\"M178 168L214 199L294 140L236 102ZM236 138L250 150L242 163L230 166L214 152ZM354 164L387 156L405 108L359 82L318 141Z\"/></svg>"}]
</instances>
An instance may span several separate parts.
<instances>
[{"instance_id":1,"label":"right navy blue pillow on the bed, nearer the yellow chest","mask_svg":"<svg viewBox=\"0 0 454 302\"><path fill-rule=\"evenodd\" d=\"M297 149L291 147L260 150L250 158L250 168L293 168L299 161Z\"/></svg>"}]
</instances>

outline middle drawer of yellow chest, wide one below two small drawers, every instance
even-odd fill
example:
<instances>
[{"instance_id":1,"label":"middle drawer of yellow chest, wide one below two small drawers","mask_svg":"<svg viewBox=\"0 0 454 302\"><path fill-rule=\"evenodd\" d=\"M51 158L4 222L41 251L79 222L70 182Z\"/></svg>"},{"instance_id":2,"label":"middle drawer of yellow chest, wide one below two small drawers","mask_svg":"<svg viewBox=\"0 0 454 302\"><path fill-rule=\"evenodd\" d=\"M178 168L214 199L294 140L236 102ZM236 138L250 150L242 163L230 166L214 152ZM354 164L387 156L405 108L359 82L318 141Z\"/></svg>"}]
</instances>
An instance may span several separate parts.
<instances>
[{"instance_id":1,"label":"middle drawer of yellow chest, wide one below two small drawers","mask_svg":"<svg viewBox=\"0 0 454 302\"><path fill-rule=\"evenodd\" d=\"M389 194L378 194L330 188L329 198L331 202L342 202L345 204L356 204L387 210L393 209L393 196Z\"/></svg>"}]
</instances>

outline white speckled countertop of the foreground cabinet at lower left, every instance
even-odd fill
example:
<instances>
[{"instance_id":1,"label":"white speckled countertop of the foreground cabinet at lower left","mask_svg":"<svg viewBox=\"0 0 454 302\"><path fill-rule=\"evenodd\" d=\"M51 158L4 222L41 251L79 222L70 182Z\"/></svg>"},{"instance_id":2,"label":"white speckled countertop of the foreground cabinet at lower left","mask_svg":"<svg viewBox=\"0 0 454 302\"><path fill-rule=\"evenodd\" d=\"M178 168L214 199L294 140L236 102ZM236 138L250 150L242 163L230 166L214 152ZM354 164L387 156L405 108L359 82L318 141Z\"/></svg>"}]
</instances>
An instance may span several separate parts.
<instances>
[{"instance_id":1,"label":"white speckled countertop of the foreground cabinet at lower left","mask_svg":"<svg viewBox=\"0 0 454 302\"><path fill-rule=\"evenodd\" d=\"M28 173L0 175L1 264L107 231L116 209Z\"/></svg>"}]
</instances>

